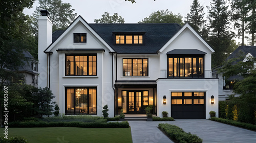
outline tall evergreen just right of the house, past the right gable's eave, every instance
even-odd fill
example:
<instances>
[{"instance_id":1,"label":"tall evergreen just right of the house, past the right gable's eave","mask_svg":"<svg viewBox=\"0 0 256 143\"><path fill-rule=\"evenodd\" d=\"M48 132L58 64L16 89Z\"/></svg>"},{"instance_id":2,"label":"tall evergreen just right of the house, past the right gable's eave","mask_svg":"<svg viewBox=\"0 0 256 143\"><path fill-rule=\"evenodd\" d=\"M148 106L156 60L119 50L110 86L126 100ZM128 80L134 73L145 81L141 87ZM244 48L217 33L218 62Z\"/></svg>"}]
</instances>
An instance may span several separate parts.
<instances>
[{"instance_id":1,"label":"tall evergreen just right of the house, past the right gable's eave","mask_svg":"<svg viewBox=\"0 0 256 143\"><path fill-rule=\"evenodd\" d=\"M208 20L210 28L209 44L215 50L212 55L212 66L217 66L233 52L230 48L232 33L228 6L225 0L212 0L208 7Z\"/></svg>"}]
</instances>

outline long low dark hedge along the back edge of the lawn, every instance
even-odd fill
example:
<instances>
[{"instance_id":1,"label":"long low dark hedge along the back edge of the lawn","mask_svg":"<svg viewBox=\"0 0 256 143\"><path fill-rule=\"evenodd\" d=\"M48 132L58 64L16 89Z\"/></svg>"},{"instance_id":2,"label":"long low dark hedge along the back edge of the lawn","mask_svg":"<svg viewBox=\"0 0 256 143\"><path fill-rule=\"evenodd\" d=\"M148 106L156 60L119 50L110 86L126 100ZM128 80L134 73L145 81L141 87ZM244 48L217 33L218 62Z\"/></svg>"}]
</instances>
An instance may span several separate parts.
<instances>
[{"instance_id":1,"label":"long low dark hedge along the back edge of the lawn","mask_svg":"<svg viewBox=\"0 0 256 143\"><path fill-rule=\"evenodd\" d=\"M80 128L129 128L130 125L127 121L125 122L94 122L94 123L83 123L83 122L10 122L8 127L11 128L31 128L31 127L80 127Z\"/></svg>"}]
</instances>

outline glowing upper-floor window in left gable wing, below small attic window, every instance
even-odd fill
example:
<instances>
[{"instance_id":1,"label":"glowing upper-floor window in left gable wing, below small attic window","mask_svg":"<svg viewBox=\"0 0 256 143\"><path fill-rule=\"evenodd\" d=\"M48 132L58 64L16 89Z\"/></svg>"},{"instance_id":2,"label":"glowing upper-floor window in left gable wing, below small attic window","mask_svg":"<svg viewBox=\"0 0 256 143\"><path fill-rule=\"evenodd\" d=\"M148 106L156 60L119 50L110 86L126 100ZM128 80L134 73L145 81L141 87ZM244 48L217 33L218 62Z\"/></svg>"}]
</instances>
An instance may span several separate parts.
<instances>
[{"instance_id":1,"label":"glowing upper-floor window in left gable wing, below small attic window","mask_svg":"<svg viewBox=\"0 0 256 143\"><path fill-rule=\"evenodd\" d=\"M67 54L66 76L97 76L96 54Z\"/></svg>"}]
</instances>

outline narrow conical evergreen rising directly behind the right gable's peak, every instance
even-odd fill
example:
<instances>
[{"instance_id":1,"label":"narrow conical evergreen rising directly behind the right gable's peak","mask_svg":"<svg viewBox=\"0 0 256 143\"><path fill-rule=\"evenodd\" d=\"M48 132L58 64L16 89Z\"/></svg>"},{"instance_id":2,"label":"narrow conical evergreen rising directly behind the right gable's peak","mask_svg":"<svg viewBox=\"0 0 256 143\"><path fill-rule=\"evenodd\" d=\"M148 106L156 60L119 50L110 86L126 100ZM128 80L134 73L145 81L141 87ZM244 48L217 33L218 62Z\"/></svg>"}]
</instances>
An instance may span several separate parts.
<instances>
[{"instance_id":1,"label":"narrow conical evergreen rising directly behind the right gable's peak","mask_svg":"<svg viewBox=\"0 0 256 143\"><path fill-rule=\"evenodd\" d=\"M194 0L190 7L190 13L185 17L186 22L190 24L200 35L202 35L203 27L206 20L204 20L204 6L200 6L198 0Z\"/></svg>"}]
</instances>

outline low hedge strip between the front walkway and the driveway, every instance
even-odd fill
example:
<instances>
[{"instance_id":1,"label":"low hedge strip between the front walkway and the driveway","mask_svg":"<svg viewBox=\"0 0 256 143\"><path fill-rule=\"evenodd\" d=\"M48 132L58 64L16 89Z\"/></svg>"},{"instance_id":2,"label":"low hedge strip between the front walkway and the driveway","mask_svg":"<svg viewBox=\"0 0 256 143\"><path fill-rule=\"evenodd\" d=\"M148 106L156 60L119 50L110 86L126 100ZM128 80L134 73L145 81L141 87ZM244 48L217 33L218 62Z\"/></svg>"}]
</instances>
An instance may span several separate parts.
<instances>
[{"instance_id":1,"label":"low hedge strip between the front walkway and the driveway","mask_svg":"<svg viewBox=\"0 0 256 143\"><path fill-rule=\"evenodd\" d=\"M182 143L200 143L203 142L203 139L199 138L195 134L186 133L183 131L182 128L170 125L170 124L159 124L158 127L167 134L172 140L175 142L182 142Z\"/></svg>"}]
</instances>

